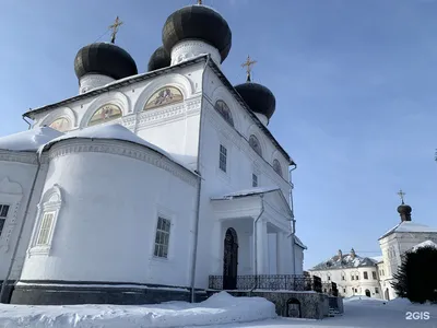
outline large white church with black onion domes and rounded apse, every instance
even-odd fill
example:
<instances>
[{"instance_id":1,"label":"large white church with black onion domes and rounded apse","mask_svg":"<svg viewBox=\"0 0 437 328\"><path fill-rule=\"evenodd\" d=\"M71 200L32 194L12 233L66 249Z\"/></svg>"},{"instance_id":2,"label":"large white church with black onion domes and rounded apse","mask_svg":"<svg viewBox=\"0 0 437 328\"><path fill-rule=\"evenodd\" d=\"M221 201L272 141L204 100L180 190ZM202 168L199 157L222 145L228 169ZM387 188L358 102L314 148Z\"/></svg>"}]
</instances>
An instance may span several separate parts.
<instances>
[{"instance_id":1,"label":"large white church with black onion domes and rounded apse","mask_svg":"<svg viewBox=\"0 0 437 328\"><path fill-rule=\"evenodd\" d=\"M118 23L118 21L117 21ZM79 95L0 138L0 279L15 304L198 300L210 276L302 274L275 97L222 71L226 21L189 5L149 71L115 44L79 50Z\"/></svg>"}]
</instances>

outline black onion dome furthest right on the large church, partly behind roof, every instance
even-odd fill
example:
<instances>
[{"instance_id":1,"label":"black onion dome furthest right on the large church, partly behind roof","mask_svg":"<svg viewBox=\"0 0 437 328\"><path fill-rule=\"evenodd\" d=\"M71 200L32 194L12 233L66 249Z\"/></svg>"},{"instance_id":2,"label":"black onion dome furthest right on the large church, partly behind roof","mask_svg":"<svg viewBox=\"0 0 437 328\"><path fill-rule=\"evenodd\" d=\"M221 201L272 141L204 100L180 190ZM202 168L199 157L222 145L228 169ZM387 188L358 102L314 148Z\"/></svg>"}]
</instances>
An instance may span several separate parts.
<instances>
[{"instance_id":1,"label":"black onion dome furthest right on the large church, partly behind roof","mask_svg":"<svg viewBox=\"0 0 437 328\"><path fill-rule=\"evenodd\" d=\"M276 108L276 99L273 93L264 85L246 82L234 86L249 108L270 119Z\"/></svg>"}]
</instances>

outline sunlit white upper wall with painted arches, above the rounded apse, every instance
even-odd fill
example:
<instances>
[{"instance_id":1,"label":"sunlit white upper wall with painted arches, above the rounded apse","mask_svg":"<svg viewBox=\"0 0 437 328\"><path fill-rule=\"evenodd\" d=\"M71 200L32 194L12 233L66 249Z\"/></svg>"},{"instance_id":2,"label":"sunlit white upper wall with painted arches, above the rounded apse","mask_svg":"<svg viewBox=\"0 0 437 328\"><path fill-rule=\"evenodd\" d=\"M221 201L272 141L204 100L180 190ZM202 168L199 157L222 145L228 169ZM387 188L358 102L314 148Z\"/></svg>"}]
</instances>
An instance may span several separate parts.
<instances>
[{"instance_id":1,"label":"sunlit white upper wall with painted arches, above the rounded apse","mask_svg":"<svg viewBox=\"0 0 437 328\"><path fill-rule=\"evenodd\" d=\"M36 114L34 127L50 125L59 117L67 117L72 121L70 129L84 128L101 106L110 103L119 106L122 117L107 124L121 124L193 166L198 151L203 66L204 63L199 63L180 68L172 73L120 86L117 91ZM184 101L143 110L151 96L163 86L177 87L182 93Z\"/></svg>"}]
</instances>

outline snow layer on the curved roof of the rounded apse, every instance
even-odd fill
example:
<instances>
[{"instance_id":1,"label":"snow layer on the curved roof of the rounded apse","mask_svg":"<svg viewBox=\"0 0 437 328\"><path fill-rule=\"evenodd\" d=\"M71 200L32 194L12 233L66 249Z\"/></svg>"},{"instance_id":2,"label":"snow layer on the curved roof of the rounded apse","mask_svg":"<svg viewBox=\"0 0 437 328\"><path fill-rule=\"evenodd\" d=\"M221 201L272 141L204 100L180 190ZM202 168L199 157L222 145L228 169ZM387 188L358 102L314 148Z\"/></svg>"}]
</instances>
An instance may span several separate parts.
<instances>
[{"instance_id":1,"label":"snow layer on the curved roof of the rounded apse","mask_svg":"<svg viewBox=\"0 0 437 328\"><path fill-rule=\"evenodd\" d=\"M193 171L191 168L187 167L184 163L175 160L174 156L168 154L163 149L145 141L144 139L138 137L135 133L131 132L129 129L127 129L123 126L118 125L118 124L88 127L85 129L67 132L56 139L49 140L49 142L47 142L46 144L44 144L39 148L38 152L43 152L46 148L50 148L56 142L59 142L62 140L68 140L68 139L78 139L78 138L121 140L121 141L128 141L128 142L141 144L149 149L154 150L155 152L166 156L170 161L175 162L176 164L178 164L178 165L182 166L184 168L193 173Z\"/></svg>"}]
</instances>

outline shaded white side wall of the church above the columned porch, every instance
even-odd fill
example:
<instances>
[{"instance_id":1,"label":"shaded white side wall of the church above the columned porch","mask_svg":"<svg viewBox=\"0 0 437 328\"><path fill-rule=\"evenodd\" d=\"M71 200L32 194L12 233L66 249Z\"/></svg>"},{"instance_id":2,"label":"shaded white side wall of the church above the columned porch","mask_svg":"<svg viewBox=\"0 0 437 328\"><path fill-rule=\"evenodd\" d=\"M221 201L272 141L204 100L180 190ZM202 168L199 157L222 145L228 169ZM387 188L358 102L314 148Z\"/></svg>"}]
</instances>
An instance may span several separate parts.
<instances>
[{"instance_id":1,"label":"shaded white side wall of the church above the columned porch","mask_svg":"<svg viewBox=\"0 0 437 328\"><path fill-rule=\"evenodd\" d=\"M204 85L213 84L218 89L221 81L215 79L213 74L205 74ZM224 195L226 192L252 188L252 173L258 175L258 186L279 186L285 198L288 200L290 185L286 180L287 169L283 168L285 178L280 177L272 168L273 161L272 150L268 145L263 145L263 154L265 160L261 159L249 145L248 134L251 130L245 119L241 108L227 91L208 90L204 86L204 95L202 99L202 136L201 136L201 154L200 154L200 172L202 180L202 198L201 198L201 215L199 224L199 250L197 260L197 286L208 286L208 276L212 274L214 269L211 265L211 234L214 231L215 214L211 207L211 197ZM212 98L211 98L212 94ZM213 104L217 99L228 103L234 119L232 127L224 118L214 109ZM234 109L233 109L234 108ZM238 109L236 109L238 108ZM237 131L241 131L240 133ZM244 134L243 134L244 133ZM252 133L252 132L250 132ZM265 140L258 136L263 144L268 144ZM226 173L220 169L220 145L223 144L227 150L227 169ZM280 155L277 155L280 156ZM286 165L283 165L287 167ZM224 235L223 235L224 238ZM206 245L206 246L202 246ZM293 258L293 256L291 256ZM244 266L239 266L243 270ZM245 270L246 272L246 270Z\"/></svg>"}]
</instances>

